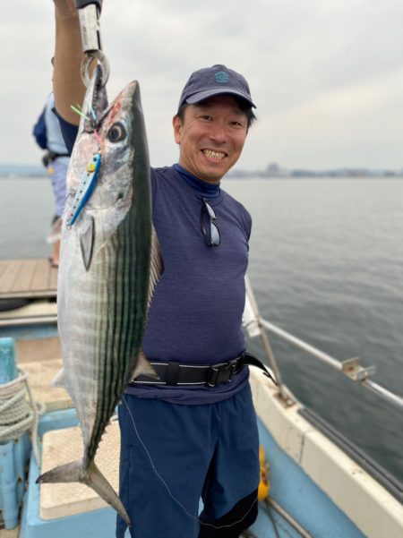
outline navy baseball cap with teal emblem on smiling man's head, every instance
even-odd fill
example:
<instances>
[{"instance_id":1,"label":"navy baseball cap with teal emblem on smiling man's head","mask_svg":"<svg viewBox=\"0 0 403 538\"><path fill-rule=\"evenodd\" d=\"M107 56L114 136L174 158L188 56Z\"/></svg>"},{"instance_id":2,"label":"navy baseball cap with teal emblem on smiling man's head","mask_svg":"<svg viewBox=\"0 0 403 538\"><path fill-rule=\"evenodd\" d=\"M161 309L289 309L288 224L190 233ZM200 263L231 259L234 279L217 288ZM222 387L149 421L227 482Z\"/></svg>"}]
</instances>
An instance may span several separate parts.
<instances>
[{"instance_id":1,"label":"navy baseball cap with teal emblem on smiling man's head","mask_svg":"<svg viewBox=\"0 0 403 538\"><path fill-rule=\"evenodd\" d=\"M194 105L220 93L229 93L243 98L251 107L256 108L246 79L242 74L221 64L199 69L191 74L184 85L178 108L184 103Z\"/></svg>"}]
</instances>

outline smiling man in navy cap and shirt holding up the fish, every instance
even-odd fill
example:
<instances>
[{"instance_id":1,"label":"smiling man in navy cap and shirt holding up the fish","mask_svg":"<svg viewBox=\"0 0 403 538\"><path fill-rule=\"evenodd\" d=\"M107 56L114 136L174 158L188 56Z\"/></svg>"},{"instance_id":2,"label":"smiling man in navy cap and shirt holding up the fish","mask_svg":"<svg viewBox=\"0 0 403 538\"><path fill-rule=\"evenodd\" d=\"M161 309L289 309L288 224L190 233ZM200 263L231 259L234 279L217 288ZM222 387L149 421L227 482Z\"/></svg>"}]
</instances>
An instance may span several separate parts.
<instances>
[{"instance_id":1,"label":"smiling man in navy cap and shirt holding up the fish","mask_svg":"<svg viewBox=\"0 0 403 538\"><path fill-rule=\"evenodd\" d=\"M71 145L70 104L84 93L80 31L73 8L55 4L56 108ZM173 119L179 161L151 170L164 273L143 351L159 381L133 380L119 407L120 497L135 538L236 538L257 516L258 432L241 326L252 222L220 189L253 107L239 73L196 71ZM116 537L125 531L117 517Z\"/></svg>"}]
</instances>

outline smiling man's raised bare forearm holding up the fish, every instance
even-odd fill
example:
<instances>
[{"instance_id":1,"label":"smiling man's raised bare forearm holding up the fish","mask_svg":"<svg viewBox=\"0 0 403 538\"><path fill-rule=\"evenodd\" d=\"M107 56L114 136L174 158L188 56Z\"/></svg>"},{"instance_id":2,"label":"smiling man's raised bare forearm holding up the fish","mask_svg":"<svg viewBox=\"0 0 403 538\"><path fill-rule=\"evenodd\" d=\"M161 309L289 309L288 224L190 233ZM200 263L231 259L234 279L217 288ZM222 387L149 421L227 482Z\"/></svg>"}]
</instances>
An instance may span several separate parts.
<instances>
[{"instance_id":1,"label":"smiling man's raised bare forearm holding up the fish","mask_svg":"<svg viewBox=\"0 0 403 538\"><path fill-rule=\"evenodd\" d=\"M81 81L83 58L80 23L74 0L55 0L56 46L53 89L58 115L70 124L78 125L80 116L71 105L82 104L85 86Z\"/></svg>"}]
</instances>

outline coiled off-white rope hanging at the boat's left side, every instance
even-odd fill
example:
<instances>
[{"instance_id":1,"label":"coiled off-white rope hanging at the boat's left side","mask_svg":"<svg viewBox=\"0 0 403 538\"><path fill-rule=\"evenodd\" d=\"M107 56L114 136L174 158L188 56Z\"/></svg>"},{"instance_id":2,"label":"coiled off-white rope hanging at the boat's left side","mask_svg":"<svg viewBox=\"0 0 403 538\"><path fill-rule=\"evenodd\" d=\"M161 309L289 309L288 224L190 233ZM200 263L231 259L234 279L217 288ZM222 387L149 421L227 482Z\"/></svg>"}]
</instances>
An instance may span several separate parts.
<instances>
[{"instance_id":1,"label":"coiled off-white rope hanging at the boat's left side","mask_svg":"<svg viewBox=\"0 0 403 538\"><path fill-rule=\"evenodd\" d=\"M15 380L0 384L0 443L18 439L30 430L32 449L39 463L38 422L43 409L34 402L28 374L21 368L18 372Z\"/></svg>"}]
</instances>

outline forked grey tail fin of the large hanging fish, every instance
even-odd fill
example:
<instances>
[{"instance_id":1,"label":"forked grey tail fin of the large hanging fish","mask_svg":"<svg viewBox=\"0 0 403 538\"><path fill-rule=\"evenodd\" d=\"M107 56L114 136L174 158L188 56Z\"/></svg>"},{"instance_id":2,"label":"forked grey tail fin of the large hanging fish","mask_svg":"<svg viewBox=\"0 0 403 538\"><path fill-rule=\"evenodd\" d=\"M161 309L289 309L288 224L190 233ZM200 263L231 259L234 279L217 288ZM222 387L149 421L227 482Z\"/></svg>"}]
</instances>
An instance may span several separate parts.
<instances>
[{"instance_id":1,"label":"forked grey tail fin of the large hanging fish","mask_svg":"<svg viewBox=\"0 0 403 538\"><path fill-rule=\"evenodd\" d=\"M124 519L127 525L132 525L122 501L116 495L116 491L107 482L105 476L99 471L99 468L92 462L88 469L84 469L82 459L78 459L66 465L60 465L40 474L37 483L54 483L54 482L81 482L90 486L96 491L107 504L116 509L120 517Z\"/></svg>"}]
</instances>

